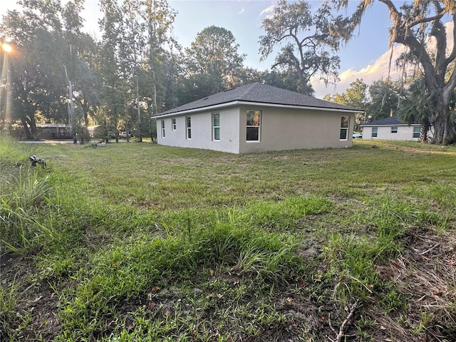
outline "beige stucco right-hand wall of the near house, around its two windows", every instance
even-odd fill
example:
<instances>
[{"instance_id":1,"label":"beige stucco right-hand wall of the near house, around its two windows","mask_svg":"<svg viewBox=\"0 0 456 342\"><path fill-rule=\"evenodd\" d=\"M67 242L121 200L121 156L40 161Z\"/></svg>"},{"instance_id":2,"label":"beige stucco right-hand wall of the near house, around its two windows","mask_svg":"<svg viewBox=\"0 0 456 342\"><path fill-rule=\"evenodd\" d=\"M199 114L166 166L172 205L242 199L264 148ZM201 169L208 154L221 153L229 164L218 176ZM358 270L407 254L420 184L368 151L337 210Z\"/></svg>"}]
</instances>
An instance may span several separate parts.
<instances>
[{"instance_id":1,"label":"beige stucco right-hand wall of the near house, around its two windows","mask_svg":"<svg viewBox=\"0 0 456 342\"><path fill-rule=\"evenodd\" d=\"M265 106L242 106L239 121L239 152L350 147L353 113ZM259 142L246 141L247 110L261 110ZM347 140L340 140L341 116L350 116Z\"/></svg>"}]
</instances>

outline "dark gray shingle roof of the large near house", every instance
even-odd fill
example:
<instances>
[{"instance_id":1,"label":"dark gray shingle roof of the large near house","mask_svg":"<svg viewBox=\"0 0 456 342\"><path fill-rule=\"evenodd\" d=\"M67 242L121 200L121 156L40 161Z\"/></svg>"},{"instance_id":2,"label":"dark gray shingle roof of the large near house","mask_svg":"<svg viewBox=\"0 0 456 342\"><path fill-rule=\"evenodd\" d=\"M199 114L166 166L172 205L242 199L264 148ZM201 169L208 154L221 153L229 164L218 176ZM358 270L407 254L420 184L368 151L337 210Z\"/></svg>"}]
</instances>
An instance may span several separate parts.
<instances>
[{"instance_id":1,"label":"dark gray shingle roof of the large near house","mask_svg":"<svg viewBox=\"0 0 456 342\"><path fill-rule=\"evenodd\" d=\"M166 110L155 116L167 115L171 113L179 113L186 110L195 110L205 108L212 105L222 105L223 103L230 103L233 101L244 101L252 103L265 103L274 105L296 105L314 108L329 108L338 110L360 111L357 108L351 108L346 105L339 105L337 103L320 100L312 96L295 93L294 91L267 86L261 83L251 83L247 86L240 86L229 90L224 90L221 93L209 95L179 107Z\"/></svg>"}]
</instances>

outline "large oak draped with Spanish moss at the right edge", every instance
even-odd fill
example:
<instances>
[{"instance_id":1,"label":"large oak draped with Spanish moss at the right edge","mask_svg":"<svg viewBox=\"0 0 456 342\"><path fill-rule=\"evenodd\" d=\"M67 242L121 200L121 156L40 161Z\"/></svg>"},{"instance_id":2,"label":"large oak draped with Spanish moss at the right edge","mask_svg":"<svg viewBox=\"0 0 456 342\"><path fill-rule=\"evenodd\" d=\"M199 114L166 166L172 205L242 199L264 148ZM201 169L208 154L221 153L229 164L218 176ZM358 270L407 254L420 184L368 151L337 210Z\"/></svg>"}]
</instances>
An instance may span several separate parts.
<instances>
[{"instance_id":1,"label":"large oak draped with Spanish moss at the right edge","mask_svg":"<svg viewBox=\"0 0 456 342\"><path fill-rule=\"evenodd\" d=\"M455 140L450 101L456 88L456 71L449 67L456 59L456 44L449 46L447 34L456 41L456 1L410 1L400 7L392 0L378 1L390 14L390 45L399 43L405 46L410 56L408 60L423 68L425 86L434 109L431 118L435 142L442 144ZM373 2L360 1L351 16L336 22L333 33L345 41L352 38L353 31L360 26L366 9ZM347 9L348 3L348 0L333 0L338 9Z\"/></svg>"}]
</instances>

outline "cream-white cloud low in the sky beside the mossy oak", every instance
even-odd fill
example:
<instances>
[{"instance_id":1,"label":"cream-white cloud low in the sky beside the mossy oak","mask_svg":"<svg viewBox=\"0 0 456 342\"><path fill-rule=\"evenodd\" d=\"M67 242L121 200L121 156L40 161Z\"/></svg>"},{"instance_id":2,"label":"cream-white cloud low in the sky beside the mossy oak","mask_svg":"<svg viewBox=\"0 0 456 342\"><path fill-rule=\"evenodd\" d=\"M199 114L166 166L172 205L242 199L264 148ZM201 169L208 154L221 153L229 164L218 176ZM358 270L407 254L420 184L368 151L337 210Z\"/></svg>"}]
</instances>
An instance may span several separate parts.
<instances>
[{"instance_id":1,"label":"cream-white cloud low in the sky beside the mossy oak","mask_svg":"<svg viewBox=\"0 0 456 342\"><path fill-rule=\"evenodd\" d=\"M449 55L454 44L452 37L453 23L448 22L445 24L445 26L447 30L447 55ZM432 49L435 47L435 41L433 38L431 38L428 41L428 46L428 49ZM393 56L391 58L391 66L389 66L391 55L391 49L389 49L380 57L378 57L373 64L368 64L368 66L365 66L360 70L354 70L353 68L350 68L346 71L339 73L339 78L341 81L339 81L336 86L328 85L328 87L326 87L323 81L319 81L318 78L314 78L311 81L311 83L314 87L316 97L323 98L323 96L326 94L333 95L335 93L343 93L350 86L350 83L356 81L357 78L362 78L364 83L371 85L373 81L378 81L382 78L388 78L388 70L390 78L400 78L402 70L398 70L398 68L395 68L395 60L398 59L400 53L403 53L404 51L405 46L394 46Z\"/></svg>"}]
</instances>

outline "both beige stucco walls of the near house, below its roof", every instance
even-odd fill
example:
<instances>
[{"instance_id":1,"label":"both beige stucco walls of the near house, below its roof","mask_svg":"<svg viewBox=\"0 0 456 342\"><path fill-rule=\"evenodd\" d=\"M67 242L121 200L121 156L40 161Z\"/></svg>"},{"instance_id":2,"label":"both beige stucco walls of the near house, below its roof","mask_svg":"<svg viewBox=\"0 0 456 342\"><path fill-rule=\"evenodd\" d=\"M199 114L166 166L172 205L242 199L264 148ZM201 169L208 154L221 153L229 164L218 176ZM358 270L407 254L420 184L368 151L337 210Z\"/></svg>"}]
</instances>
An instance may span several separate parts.
<instances>
[{"instance_id":1,"label":"both beige stucco walls of the near house, below its roof","mask_svg":"<svg viewBox=\"0 0 456 342\"><path fill-rule=\"evenodd\" d=\"M261 110L259 142L246 141L247 110ZM219 141L212 139L212 113L220 113ZM346 140L339 139L343 115L350 117ZM192 139L186 138L186 116L192 118ZM258 105L205 110L177 115L174 118L176 118L176 130L172 130L171 116L157 118L157 142L160 145L232 153L350 147L354 123L353 113ZM162 138L161 120L165 120L165 138Z\"/></svg>"}]
</instances>

